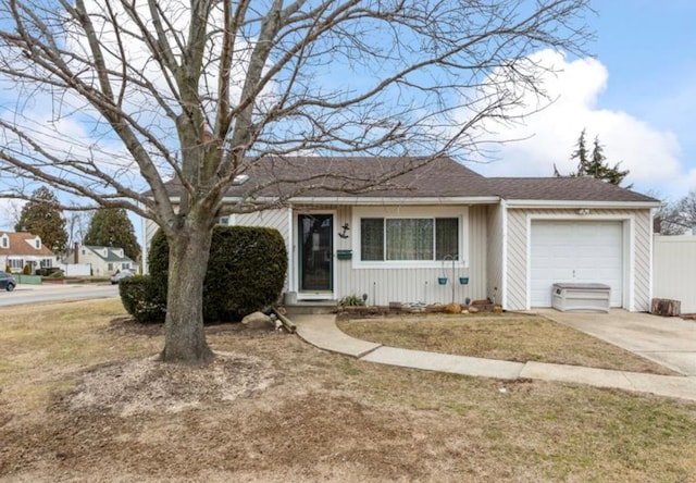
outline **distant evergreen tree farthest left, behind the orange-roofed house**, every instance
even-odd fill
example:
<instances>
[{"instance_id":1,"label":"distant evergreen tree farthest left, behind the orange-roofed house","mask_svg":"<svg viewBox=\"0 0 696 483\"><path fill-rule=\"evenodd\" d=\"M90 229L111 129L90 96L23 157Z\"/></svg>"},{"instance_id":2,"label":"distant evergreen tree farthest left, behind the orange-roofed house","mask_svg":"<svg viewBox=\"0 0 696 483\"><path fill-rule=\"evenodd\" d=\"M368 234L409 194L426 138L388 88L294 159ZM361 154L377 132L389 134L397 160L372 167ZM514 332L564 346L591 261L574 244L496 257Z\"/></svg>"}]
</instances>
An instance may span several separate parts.
<instances>
[{"instance_id":1,"label":"distant evergreen tree farthest left, behind the orange-roofed house","mask_svg":"<svg viewBox=\"0 0 696 483\"><path fill-rule=\"evenodd\" d=\"M54 253L65 252L67 232L65 219L58 208L58 198L41 186L32 194L32 200L22 207L16 232L28 232L41 238L41 243Z\"/></svg>"}]
</instances>

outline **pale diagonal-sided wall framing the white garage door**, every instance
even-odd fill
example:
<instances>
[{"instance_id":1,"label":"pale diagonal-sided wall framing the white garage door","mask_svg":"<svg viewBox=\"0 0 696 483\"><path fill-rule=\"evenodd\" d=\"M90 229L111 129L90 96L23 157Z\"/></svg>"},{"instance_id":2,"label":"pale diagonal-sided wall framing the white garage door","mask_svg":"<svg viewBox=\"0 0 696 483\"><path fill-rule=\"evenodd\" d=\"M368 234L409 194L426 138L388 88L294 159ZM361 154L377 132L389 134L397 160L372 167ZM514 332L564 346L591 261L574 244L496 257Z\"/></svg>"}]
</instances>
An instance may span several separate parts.
<instances>
[{"instance_id":1,"label":"pale diagonal-sided wall framing the white garage door","mask_svg":"<svg viewBox=\"0 0 696 483\"><path fill-rule=\"evenodd\" d=\"M634 311L647 311L650 304L651 280L651 226L649 209L610 210L593 209L589 214L579 214L576 209L523 209L507 211L506 257L506 309L529 309L529 240L530 219L556 219L573 221L624 221L624 272L626 273L623 307ZM627 251L627 253L625 252Z\"/></svg>"}]
</instances>

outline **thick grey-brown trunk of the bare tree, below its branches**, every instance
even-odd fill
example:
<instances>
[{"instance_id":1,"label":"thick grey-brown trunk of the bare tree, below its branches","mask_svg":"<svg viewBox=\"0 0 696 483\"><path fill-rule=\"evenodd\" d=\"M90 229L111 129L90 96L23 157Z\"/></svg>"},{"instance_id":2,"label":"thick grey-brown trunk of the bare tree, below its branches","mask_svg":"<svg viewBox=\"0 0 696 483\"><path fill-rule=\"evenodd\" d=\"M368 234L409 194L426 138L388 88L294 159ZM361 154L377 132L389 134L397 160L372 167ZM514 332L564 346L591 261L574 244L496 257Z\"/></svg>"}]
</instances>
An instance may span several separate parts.
<instances>
[{"instance_id":1,"label":"thick grey-brown trunk of the bare tree, below its branches","mask_svg":"<svg viewBox=\"0 0 696 483\"><path fill-rule=\"evenodd\" d=\"M203 280L212 230L186 223L170 239L170 274L162 360L206 363L213 352L203 331Z\"/></svg>"}]
</instances>

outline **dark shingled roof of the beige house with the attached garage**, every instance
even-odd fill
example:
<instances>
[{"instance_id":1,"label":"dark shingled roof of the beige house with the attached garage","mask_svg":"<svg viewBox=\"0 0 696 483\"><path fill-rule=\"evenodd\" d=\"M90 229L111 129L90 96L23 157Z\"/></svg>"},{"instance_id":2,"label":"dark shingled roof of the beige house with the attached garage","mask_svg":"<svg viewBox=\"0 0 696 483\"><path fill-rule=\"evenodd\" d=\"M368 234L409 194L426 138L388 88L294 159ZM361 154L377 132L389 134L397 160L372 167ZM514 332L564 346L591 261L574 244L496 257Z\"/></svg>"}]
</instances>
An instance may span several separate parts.
<instances>
[{"instance_id":1,"label":"dark shingled roof of the beige house with the attached garage","mask_svg":"<svg viewBox=\"0 0 696 483\"><path fill-rule=\"evenodd\" d=\"M402 172L398 176L395 173ZM264 158L226 196L351 198L490 198L508 200L658 202L592 177L484 177L451 158ZM368 187L365 187L368 185ZM167 183L179 194L177 181Z\"/></svg>"}]
</instances>

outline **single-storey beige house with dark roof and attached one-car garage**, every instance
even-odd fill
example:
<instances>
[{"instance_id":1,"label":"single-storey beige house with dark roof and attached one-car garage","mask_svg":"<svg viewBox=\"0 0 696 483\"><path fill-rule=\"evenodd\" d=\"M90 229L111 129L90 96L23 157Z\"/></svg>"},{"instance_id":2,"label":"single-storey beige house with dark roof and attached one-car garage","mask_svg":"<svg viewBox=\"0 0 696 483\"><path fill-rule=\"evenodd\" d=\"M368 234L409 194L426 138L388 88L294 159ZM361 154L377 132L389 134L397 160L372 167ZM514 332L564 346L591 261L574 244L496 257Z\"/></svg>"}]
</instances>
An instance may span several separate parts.
<instances>
[{"instance_id":1,"label":"single-storey beige house with dark roof and attached one-car garage","mask_svg":"<svg viewBox=\"0 0 696 483\"><path fill-rule=\"evenodd\" d=\"M459 301L490 298L525 310L550 307L554 283L575 282L610 285L611 307L649 309L658 200L592 177L487 178L449 158L411 169L418 160L268 159L232 187L229 203L273 201L293 189L263 188L274 179L307 179L306 190L282 199L283 208L226 221L283 234L286 288L298 300L364 294L371 305L448 302L455 283ZM312 189L312 173L327 165L340 175L335 186ZM409 171L351 189L353 181L380 179L385 166ZM176 199L181 185L167 186ZM156 228L144 224L144 259Z\"/></svg>"}]
</instances>

